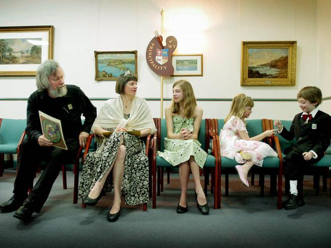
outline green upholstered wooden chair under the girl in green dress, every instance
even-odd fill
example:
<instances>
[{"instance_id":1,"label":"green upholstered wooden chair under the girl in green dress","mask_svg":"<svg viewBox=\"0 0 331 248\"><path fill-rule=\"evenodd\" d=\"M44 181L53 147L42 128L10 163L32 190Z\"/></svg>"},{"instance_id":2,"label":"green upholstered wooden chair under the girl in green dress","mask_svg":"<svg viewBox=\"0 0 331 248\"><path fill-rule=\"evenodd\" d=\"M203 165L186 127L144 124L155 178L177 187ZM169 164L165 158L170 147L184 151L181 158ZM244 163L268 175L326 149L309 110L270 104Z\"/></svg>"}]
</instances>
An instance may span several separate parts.
<instances>
[{"instance_id":1,"label":"green upholstered wooden chair under the girl in green dress","mask_svg":"<svg viewBox=\"0 0 331 248\"><path fill-rule=\"evenodd\" d=\"M164 150L164 138L167 137L167 125L166 125L166 119L158 119L157 121L157 137L156 137L156 142L153 143L153 162L152 162L152 175L153 175L153 203L152 207L156 207L156 170L157 170L157 195L160 195L160 184L161 184L161 177L160 177L160 171L161 168L173 168L171 164L169 164L166 160L163 158L159 157L157 154L157 150L163 151ZM202 119L200 129L199 129L199 134L198 134L198 140L201 143L201 148L204 149L206 152L208 151L209 148L209 140L212 138L213 144L215 144L214 147L218 147L216 137L210 137L209 136L209 130L208 130L208 124L206 125L206 120ZM219 163L219 149L213 149L212 154L207 155L207 160L204 165L204 169L210 170L213 169L215 171L218 171L218 163ZM215 190L214 190L214 208L216 209L218 207L217 203L217 194L218 194L218 174L219 173L214 173L215 175ZM206 174L205 174L206 175ZM206 179L206 178L205 178ZM208 183L205 180L205 185ZM206 187L205 187L205 194L206 192Z\"/></svg>"}]
</instances>

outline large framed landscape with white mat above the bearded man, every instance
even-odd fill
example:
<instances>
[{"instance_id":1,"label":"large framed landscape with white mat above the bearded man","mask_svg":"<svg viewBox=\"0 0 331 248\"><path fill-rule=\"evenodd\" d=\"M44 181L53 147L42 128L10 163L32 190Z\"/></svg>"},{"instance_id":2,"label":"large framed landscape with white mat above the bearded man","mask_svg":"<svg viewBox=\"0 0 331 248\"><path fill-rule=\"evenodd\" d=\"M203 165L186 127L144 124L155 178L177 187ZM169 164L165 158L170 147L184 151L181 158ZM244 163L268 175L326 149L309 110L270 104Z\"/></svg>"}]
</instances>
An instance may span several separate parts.
<instances>
[{"instance_id":1,"label":"large framed landscape with white mat above the bearded man","mask_svg":"<svg viewBox=\"0 0 331 248\"><path fill-rule=\"evenodd\" d=\"M53 58L53 26L0 27L0 76L35 76Z\"/></svg>"}]
</instances>

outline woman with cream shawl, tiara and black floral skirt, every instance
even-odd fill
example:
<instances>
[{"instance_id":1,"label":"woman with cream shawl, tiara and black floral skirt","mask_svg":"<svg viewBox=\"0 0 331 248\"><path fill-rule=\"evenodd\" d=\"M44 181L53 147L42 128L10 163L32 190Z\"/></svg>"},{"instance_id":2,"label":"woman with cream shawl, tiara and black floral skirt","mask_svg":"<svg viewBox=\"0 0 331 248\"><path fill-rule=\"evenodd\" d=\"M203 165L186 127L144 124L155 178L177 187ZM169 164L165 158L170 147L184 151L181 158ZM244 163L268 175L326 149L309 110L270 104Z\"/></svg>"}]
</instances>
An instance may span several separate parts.
<instances>
[{"instance_id":1,"label":"woman with cream shawl, tiara and black floral skirt","mask_svg":"<svg viewBox=\"0 0 331 248\"><path fill-rule=\"evenodd\" d=\"M140 137L144 137L155 132L155 124L146 100L136 97L136 90L135 75L121 74L116 81L116 93L120 96L107 100L93 123L98 149L88 153L81 173L78 196L87 205L97 204L114 187L113 206L107 213L110 222L120 216L121 196L127 205L146 203L149 199L145 144L127 131L140 131ZM109 131L114 132L104 137Z\"/></svg>"}]
</instances>

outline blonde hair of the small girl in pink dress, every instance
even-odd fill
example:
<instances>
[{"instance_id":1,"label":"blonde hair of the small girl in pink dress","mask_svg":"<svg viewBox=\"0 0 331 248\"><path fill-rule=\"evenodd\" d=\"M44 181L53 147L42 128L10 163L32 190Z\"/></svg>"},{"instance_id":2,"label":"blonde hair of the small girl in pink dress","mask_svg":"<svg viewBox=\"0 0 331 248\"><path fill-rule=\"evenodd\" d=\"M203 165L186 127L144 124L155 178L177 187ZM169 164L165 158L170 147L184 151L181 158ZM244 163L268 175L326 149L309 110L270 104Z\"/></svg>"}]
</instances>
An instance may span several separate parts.
<instances>
[{"instance_id":1,"label":"blonde hair of the small girl in pink dress","mask_svg":"<svg viewBox=\"0 0 331 248\"><path fill-rule=\"evenodd\" d=\"M232 105L230 109L230 113L225 118L224 123L228 121L228 119L231 118L232 115L236 116L237 118L240 118L244 120L243 114L246 111L246 107L254 107L253 99L245 94L238 94L234 96L232 100Z\"/></svg>"}]
</instances>

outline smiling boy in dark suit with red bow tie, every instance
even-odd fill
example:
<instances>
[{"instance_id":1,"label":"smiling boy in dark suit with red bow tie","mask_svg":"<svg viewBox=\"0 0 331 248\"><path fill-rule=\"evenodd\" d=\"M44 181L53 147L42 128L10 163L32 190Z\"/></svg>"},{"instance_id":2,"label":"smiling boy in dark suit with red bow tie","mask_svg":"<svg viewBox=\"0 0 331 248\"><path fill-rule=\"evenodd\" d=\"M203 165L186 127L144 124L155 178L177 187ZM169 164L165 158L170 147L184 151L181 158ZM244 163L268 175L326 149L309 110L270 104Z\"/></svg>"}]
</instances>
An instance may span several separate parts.
<instances>
[{"instance_id":1,"label":"smiling boy in dark suit with red bow tie","mask_svg":"<svg viewBox=\"0 0 331 248\"><path fill-rule=\"evenodd\" d=\"M307 86L297 94L302 112L294 116L290 130L280 120L274 121L278 133L296 143L284 150L285 176L290 180L290 196L283 202L286 210L305 205L302 195L304 168L317 163L324 156L331 138L331 116L318 110L322 103L322 92L318 87Z\"/></svg>"}]
</instances>

